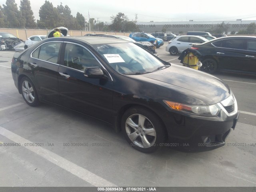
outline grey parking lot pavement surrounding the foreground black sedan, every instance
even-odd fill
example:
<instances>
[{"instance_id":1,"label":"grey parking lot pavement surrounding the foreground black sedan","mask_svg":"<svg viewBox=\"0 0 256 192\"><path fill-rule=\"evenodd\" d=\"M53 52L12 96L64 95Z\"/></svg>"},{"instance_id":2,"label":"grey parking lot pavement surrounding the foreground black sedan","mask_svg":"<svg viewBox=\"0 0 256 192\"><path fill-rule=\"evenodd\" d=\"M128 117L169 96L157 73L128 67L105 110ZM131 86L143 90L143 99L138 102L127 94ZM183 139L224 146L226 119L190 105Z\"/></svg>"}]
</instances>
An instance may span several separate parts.
<instances>
[{"instance_id":1,"label":"grey parking lot pavement surrounding the foreground black sedan","mask_svg":"<svg viewBox=\"0 0 256 192\"><path fill-rule=\"evenodd\" d=\"M159 57L180 64L166 44ZM0 52L0 186L256 187L256 76L215 74L241 112L225 146L144 154L104 122L48 104L28 106L14 86L13 54Z\"/></svg>"}]
</instances>

